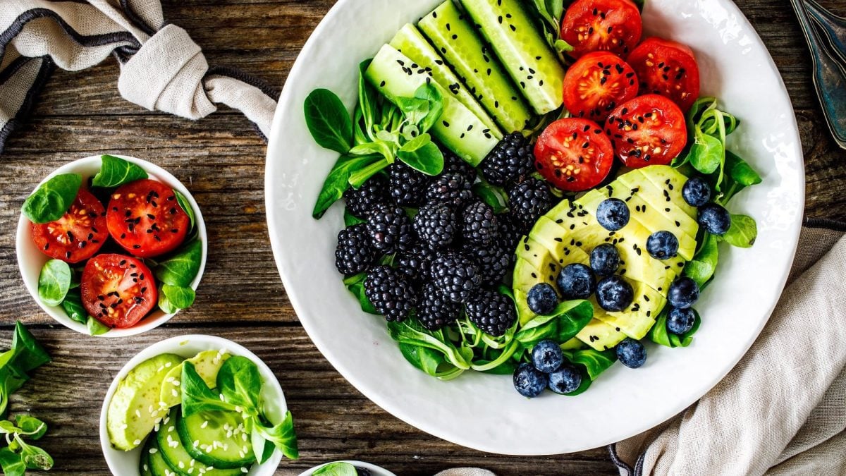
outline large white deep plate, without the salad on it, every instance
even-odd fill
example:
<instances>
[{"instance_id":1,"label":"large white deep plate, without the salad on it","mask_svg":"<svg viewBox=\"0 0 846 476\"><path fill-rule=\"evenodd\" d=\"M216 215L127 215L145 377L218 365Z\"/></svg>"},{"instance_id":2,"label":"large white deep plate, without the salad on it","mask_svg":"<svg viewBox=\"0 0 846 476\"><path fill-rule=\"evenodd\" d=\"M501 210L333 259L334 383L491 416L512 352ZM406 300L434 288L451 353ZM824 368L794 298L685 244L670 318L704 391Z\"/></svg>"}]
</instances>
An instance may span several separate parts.
<instances>
[{"instance_id":1,"label":"large white deep plate, without the salad on it","mask_svg":"<svg viewBox=\"0 0 846 476\"><path fill-rule=\"evenodd\" d=\"M411 367L380 318L360 311L334 267L342 207L311 209L338 154L318 147L303 101L317 87L348 108L358 64L440 0L340 0L300 53L276 111L266 164L267 223L279 273L300 322L332 365L405 422L482 451L545 455L607 445L672 417L743 357L775 307L793 261L805 201L799 132L788 93L752 26L729 0L650 0L646 34L693 47L703 95L742 121L730 148L764 178L729 207L758 222L749 250L721 246L717 280L697 310L693 345L648 346L644 368L615 365L581 396L528 400L508 376L466 373L441 382Z\"/></svg>"}]
</instances>

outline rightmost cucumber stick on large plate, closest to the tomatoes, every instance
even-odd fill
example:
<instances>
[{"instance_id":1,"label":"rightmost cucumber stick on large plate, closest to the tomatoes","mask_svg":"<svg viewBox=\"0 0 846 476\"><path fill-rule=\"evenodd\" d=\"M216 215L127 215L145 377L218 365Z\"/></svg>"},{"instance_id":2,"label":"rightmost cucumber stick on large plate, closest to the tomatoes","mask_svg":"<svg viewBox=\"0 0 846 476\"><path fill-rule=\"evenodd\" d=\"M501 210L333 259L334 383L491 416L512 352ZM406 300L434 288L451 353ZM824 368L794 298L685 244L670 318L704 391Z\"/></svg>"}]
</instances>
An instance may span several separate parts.
<instances>
[{"instance_id":1,"label":"rightmost cucumber stick on large plate, closest to the tomatoes","mask_svg":"<svg viewBox=\"0 0 846 476\"><path fill-rule=\"evenodd\" d=\"M561 107L564 69L517 0L462 0L535 112Z\"/></svg>"}]
</instances>

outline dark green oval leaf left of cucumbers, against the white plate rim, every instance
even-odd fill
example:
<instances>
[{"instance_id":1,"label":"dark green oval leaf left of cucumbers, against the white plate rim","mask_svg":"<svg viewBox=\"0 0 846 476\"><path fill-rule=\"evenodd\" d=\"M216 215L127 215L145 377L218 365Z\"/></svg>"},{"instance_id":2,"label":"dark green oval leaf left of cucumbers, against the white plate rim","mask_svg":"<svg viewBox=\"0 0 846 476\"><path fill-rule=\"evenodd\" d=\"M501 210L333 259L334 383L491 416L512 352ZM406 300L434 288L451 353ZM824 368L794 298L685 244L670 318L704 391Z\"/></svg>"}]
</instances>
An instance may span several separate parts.
<instances>
[{"instance_id":1,"label":"dark green oval leaf left of cucumbers, against the white plate rim","mask_svg":"<svg viewBox=\"0 0 846 476\"><path fill-rule=\"evenodd\" d=\"M327 89L311 91L305 98L305 125L321 147L347 153L353 141L353 123L341 99Z\"/></svg>"}]
</instances>

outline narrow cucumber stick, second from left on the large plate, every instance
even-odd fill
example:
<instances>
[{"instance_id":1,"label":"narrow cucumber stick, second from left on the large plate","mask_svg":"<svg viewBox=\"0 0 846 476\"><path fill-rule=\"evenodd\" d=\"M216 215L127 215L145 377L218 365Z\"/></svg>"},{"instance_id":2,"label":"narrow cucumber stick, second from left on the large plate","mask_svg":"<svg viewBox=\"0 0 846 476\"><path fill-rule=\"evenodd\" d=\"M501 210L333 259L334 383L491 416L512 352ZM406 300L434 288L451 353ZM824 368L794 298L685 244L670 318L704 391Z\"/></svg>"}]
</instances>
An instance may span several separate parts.
<instances>
[{"instance_id":1,"label":"narrow cucumber stick, second from left on the large plate","mask_svg":"<svg viewBox=\"0 0 846 476\"><path fill-rule=\"evenodd\" d=\"M474 113L487 129L497 130L497 123L493 122L485 108L482 108L481 104L470 94L470 91L467 91L467 88L461 84L459 77L444 63L443 58L437 54L435 48L431 47L429 42L426 42L426 38L420 34L415 25L410 23L405 25L393 36L393 40L389 44L397 48L399 53L403 53L411 61L414 61L420 69L428 69L432 79L441 86L447 86L453 96L470 109L470 112Z\"/></svg>"}]
</instances>

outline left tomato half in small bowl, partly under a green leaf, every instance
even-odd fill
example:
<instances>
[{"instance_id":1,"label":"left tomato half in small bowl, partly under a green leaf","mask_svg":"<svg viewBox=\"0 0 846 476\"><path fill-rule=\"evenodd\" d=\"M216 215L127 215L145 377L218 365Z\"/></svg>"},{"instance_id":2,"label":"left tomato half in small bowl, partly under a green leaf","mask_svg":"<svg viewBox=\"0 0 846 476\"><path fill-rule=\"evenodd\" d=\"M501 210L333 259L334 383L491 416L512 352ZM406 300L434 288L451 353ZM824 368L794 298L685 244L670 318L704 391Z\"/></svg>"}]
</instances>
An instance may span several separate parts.
<instances>
[{"instance_id":1,"label":"left tomato half in small bowl, partly under a green leaf","mask_svg":"<svg viewBox=\"0 0 846 476\"><path fill-rule=\"evenodd\" d=\"M32 241L49 257L80 263L94 256L108 238L106 210L90 191L80 188L63 217L32 224Z\"/></svg>"}]
</instances>

